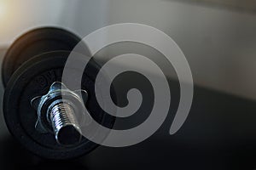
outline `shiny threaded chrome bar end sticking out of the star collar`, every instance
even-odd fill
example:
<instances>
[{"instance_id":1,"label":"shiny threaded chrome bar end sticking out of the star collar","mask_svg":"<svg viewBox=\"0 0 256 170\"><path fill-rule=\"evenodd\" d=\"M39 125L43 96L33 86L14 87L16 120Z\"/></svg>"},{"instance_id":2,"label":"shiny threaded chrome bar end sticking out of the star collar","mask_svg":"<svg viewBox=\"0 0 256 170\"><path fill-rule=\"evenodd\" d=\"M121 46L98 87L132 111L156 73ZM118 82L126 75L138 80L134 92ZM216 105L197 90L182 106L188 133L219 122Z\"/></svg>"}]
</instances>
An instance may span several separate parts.
<instances>
[{"instance_id":1,"label":"shiny threaded chrome bar end sticking out of the star collar","mask_svg":"<svg viewBox=\"0 0 256 170\"><path fill-rule=\"evenodd\" d=\"M55 105L50 111L50 120L59 144L71 145L80 142L81 130L73 108L65 103Z\"/></svg>"}]
</instances>

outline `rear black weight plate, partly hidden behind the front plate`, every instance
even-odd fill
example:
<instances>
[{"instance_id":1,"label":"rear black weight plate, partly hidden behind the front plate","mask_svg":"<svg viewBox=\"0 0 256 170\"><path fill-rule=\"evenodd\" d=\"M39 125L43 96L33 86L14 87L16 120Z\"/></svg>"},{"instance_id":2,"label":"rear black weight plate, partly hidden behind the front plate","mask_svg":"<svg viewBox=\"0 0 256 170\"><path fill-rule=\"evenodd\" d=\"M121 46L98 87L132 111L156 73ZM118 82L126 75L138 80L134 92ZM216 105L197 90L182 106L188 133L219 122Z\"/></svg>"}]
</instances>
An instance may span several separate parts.
<instances>
[{"instance_id":1,"label":"rear black weight plate, partly hidden behind the front plate","mask_svg":"<svg viewBox=\"0 0 256 170\"><path fill-rule=\"evenodd\" d=\"M42 27L26 32L15 40L4 56L2 65L4 87L15 70L26 60L45 52L71 51L79 41L79 37L61 28Z\"/></svg>"}]
</instances>

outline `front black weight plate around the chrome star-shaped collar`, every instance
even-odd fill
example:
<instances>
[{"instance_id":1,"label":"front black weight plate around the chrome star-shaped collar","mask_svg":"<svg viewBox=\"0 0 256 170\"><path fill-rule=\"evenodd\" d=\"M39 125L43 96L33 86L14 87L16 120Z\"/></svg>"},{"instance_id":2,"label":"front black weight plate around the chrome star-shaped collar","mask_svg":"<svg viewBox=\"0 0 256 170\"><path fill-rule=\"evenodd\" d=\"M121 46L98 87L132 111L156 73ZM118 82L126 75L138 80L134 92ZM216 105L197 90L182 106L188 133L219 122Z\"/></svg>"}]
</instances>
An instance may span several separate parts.
<instances>
[{"instance_id":1,"label":"front black weight plate around the chrome star-shaped collar","mask_svg":"<svg viewBox=\"0 0 256 170\"><path fill-rule=\"evenodd\" d=\"M53 134L42 134L35 130L37 112L30 105L30 101L35 96L46 94L52 82L61 82L62 70L68 55L69 52L58 51L29 59L15 71L4 92L3 113L10 133L27 150L48 159L81 156L98 145L84 138L80 144L67 148L57 144ZM76 68L73 71L75 73ZM94 82L97 71L99 67L94 62L90 62L84 69L81 86L89 94L86 108L96 122L105 127L113 127L114 117L102 111L96 102L95 86L97 85ZM76 81L74 77L72 78Z\"/></svg>"}]
</instances>

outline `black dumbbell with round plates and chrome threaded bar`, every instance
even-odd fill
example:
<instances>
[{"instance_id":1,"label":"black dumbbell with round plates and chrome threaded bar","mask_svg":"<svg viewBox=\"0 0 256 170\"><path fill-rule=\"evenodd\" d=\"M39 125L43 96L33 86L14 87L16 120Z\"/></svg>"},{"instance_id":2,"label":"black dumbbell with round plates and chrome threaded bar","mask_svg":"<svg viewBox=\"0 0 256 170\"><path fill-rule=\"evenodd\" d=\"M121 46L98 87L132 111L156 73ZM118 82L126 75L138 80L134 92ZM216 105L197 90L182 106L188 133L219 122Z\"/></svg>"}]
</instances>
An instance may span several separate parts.
<instances>
[{"instance_id":1,"label":"black dumbbell with round plates and chrome threaded bar","mask_svg":"<svg viewBox=\"0 0 256 170\"><path fill-rule=\"evenodd\" d=\"M19 37L3 59L3 114L9 132L27 150L47 159L70 159L94 150L98 144L82 135L90 119L113 127L114 117L96 101L100 65L90 59L80 89L61 82L67 57L79 42L69 31L38 28ZM71 70L73 75L79 72L75 65Z\"/></svg>"}]
</instances>

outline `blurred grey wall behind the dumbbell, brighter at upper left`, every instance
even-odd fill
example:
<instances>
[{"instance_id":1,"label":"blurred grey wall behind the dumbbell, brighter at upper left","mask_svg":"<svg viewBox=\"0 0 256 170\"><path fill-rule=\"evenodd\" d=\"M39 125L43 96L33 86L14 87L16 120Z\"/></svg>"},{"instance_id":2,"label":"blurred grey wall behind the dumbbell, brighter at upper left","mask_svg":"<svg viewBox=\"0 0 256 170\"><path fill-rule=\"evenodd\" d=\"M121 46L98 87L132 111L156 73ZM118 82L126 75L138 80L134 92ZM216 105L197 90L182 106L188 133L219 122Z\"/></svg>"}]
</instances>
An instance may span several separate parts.
<instances>
[{"instance_id":1,"label":"blurred grey wall behind the dumbbell, brighter at upper left","mask_svg":"<svg viewBox=\"0 0 256 170\"><path fill-rule=\"evenodd\" d=\"M255 1L10 0L1 8L1 49L38 26L61 26L84 37L102 26L136 22L177 42L196 84L256 99Z\"/></svg>"}]
</instances>

